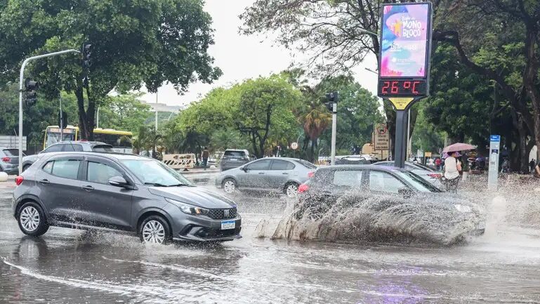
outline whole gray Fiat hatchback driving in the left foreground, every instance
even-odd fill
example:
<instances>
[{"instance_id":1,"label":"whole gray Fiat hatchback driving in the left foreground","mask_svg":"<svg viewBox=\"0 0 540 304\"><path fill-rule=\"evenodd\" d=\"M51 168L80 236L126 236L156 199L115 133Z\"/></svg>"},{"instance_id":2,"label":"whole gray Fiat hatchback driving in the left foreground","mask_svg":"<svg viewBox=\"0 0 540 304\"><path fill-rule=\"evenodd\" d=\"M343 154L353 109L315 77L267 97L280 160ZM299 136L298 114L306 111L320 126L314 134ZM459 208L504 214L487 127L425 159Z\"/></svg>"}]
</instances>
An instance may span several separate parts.
<instances>
[{"instance_id":1,"label":"whole gray Fiat hatchback driving in the left foreground","mask_svg":"<svg viewBox=\"0 0 540 304\"><path fill-rule=\"evenodd\" d=\"M159 161L128 154L49 153L15 180L23 233L49 226L123 230L143 242L230 241L242 220L230 199L193 186Z\"/></svg>"}]
</instances>

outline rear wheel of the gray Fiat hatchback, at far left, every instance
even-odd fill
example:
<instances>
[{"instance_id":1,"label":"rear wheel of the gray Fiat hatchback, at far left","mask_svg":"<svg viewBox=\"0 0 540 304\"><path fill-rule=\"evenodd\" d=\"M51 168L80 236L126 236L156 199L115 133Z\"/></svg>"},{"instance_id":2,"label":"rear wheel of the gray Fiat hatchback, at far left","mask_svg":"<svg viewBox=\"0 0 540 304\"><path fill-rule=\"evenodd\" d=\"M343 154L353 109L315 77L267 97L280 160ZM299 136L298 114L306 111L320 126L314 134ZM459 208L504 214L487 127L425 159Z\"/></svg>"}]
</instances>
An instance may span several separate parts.
<instances>
[{"instance_id":1,"label":"rear wheel of the gray Fiat hatchback, at far left","mask_svg":"<svg viewBox=\"0 0 540 304\"><path fill-rule=\"evenodd\" d=\"M48 230L43 210L34 201L28 201L20 207L17 222L22 233L33 237L39 237Z\"/></svg>"}]
</instances>

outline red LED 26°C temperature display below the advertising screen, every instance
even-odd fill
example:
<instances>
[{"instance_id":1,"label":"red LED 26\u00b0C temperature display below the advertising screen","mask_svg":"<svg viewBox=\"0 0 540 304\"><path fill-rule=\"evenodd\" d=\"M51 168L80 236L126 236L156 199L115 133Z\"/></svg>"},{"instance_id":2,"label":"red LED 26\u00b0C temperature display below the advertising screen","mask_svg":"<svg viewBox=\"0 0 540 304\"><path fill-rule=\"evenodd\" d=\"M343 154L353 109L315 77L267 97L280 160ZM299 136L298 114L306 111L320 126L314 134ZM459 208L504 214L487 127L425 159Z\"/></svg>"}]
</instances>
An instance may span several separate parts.
<instances>
[{"instance_id":1,"label":"red LED 26\u00b0C temperature display below the advertising screen","mask_svg":"<svg viewBox=\"0 0 540 304\"><path fill-rule=\"evenodd\" d=\"M379 79L378 95L381 97L426 96L426 79Z\"/></svg>"}]
</instances>

